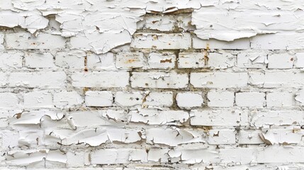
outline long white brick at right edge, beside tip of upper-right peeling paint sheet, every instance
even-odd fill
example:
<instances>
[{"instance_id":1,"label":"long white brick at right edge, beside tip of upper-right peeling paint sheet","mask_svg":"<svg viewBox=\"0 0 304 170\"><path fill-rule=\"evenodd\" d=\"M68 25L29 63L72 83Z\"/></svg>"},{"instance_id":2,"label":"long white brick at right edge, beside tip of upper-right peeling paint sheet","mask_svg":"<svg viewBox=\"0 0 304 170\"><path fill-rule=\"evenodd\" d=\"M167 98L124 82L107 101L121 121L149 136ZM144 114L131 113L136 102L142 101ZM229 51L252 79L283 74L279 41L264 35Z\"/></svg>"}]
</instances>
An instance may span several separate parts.
<instances>
[{"instance_id":1,"label":"long white brick at right edge, beside tip of upper-right peeling paint sheet","mask_svg":"<svg viewBox=\"0 0 304 170\"><path fill-rule=\"evenodd\" d=\"M296 50L304 48L301 33L275 33L257 35L250 39L253 49L262 50Z\"/></svg>"}]
</instances>

